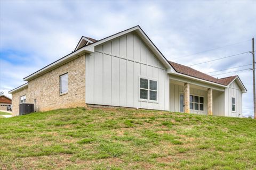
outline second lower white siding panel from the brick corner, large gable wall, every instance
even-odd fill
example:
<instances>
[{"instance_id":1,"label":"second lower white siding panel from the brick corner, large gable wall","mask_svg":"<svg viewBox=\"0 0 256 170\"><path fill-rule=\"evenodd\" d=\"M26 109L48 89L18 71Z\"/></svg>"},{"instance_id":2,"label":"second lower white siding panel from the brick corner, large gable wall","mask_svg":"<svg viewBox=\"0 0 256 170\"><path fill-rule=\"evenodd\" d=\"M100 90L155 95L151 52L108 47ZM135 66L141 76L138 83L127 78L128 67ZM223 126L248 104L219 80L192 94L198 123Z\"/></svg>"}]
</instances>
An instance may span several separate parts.
<instances>
[{"instance_id":1,"label":"second lower white siding panel from the brick corner, large gable wall","mask_svg":"<svg viewBox=\"0 0 256 170\"><path fill-rule=\"evenodd\" d=\"M103 104L103 54L94 53L94 103Z\"/></svg>"}]
</instances>

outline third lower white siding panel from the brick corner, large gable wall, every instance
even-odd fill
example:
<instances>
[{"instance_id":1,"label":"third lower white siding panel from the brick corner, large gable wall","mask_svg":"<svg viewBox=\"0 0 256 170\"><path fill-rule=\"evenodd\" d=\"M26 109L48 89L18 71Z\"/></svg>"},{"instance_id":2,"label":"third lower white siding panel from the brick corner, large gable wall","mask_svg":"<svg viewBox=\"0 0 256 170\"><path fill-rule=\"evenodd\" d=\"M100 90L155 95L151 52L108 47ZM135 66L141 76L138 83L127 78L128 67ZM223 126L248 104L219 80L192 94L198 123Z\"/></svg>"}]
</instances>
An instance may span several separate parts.
<instances>
[{"instance_id":1,"label":"third lower white siding panel from the brick corner, large gable wall","mask_svg":"<svg viewBox=\"0 0 256 170\"><path fill-rule=\"evenodd\" d=\"M103 105L111 105L111 56L103 56Z\"/></svg>"}]
</instances>

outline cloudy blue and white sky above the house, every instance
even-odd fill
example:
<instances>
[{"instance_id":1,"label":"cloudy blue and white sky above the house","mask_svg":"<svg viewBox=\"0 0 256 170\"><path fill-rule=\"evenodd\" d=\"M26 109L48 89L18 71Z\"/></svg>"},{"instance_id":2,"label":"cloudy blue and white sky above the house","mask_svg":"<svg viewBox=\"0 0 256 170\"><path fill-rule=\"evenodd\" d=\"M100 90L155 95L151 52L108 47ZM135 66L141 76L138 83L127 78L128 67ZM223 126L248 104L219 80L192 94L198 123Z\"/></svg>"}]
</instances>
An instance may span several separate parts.
<instances>
[{"instance_id":1,"label":"cloudy blue and white sky above the house","mask_svg":"<svg viewBox=\"0 0 256 170\"><path fill-rule=\"evenodd\" d=\"M102 39L135 25L168 60L187 66L249 52L251 39L256 38L255 9L256 1L2 0L0 91L11 97L8 91L26 83L22 79L27 75L71 53L81 36ZM218 48L222 46L226 47ZM218 49L209 50L213 48ZM192 67L208 73L247 64L252 64L250 53ZM251 67L214 72L226 73L216 78L239 75L248 90L243 94L244 116L253 114L252 71L227 72Z\"/></svg>"}]
</instances>

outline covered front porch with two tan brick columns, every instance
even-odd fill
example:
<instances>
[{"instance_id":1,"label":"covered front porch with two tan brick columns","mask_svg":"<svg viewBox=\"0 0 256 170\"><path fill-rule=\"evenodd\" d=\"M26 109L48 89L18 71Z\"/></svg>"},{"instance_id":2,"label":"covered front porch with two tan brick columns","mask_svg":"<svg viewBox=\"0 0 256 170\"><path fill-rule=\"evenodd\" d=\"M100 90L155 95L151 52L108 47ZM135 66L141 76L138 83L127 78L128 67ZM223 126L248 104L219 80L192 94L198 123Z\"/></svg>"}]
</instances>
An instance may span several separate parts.
<instances>
[{"instance_id":1,"label":"covered front porch with two tan brick columns","mask_svg":"<svg viewBox=\"0 0 256 170\"><path fill-rule=\"evenodd\" d=\"M170 77L170 111L225 116L225 88Z\"/></svg>"}]
</instances>

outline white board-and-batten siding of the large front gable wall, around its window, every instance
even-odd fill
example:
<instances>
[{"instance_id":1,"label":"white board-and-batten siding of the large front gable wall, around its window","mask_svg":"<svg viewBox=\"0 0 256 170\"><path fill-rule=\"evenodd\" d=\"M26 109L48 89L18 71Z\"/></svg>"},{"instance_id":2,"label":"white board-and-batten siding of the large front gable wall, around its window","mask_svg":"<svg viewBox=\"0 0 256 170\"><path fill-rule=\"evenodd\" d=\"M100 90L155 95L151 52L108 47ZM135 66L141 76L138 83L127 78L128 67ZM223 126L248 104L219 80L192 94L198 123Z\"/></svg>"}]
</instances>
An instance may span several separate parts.
<instances>
[{"instance_id":1,"label":"white board-and-batten siding of the large front gable wall, around its window","mask_svg":"<svg viewBox=\"0 0 256 170\"><path fill-rule=\"evenodd\" d=\"M136 33L95 47L86 55L87 104L169 111L169 76ZM139 99L139 78L158 82L157 102Z\"/></svg>"}]
</instances>

